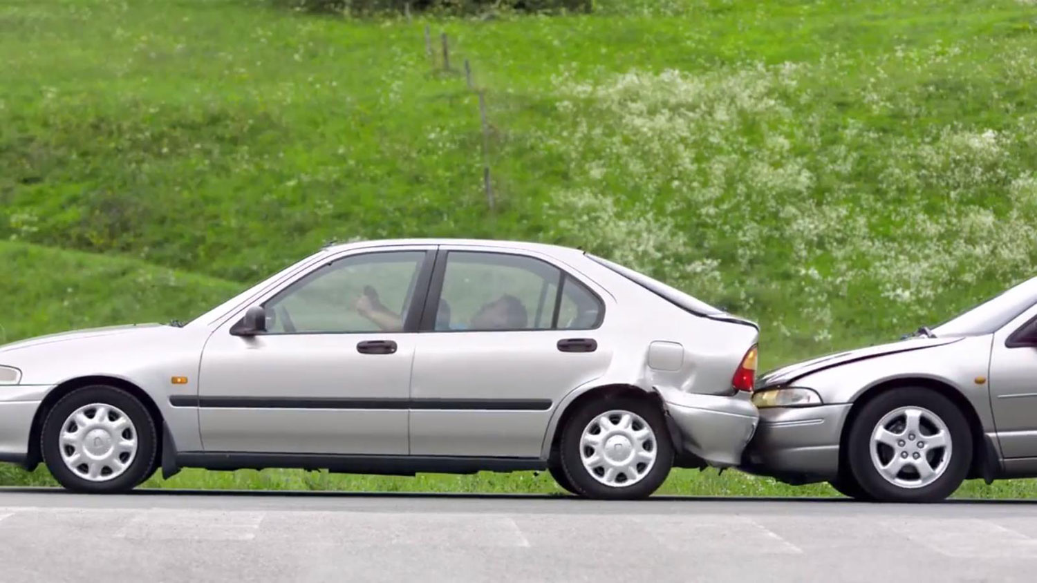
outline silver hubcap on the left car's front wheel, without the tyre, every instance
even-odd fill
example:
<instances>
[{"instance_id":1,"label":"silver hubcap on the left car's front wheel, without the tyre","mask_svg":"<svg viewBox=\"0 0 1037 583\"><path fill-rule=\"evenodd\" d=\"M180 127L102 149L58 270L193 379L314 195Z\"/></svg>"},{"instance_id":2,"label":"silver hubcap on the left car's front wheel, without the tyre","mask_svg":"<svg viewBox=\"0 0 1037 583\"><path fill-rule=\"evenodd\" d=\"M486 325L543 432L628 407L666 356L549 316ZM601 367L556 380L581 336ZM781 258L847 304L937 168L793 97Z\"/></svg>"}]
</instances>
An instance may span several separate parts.
<instances>
[{"instance_id":1,"label":"silver hubcap on the left car's front wheel, without the tyre","mask_svg":"<svg viewBox=\"0 0 1037 583\"><path fill-rule=\"evenodd\" d=\"M121 409L104 403L76 409L59 440L65 466L90 482L122 475L137 456L137 428Z\"/></svg>"}]
</instances>

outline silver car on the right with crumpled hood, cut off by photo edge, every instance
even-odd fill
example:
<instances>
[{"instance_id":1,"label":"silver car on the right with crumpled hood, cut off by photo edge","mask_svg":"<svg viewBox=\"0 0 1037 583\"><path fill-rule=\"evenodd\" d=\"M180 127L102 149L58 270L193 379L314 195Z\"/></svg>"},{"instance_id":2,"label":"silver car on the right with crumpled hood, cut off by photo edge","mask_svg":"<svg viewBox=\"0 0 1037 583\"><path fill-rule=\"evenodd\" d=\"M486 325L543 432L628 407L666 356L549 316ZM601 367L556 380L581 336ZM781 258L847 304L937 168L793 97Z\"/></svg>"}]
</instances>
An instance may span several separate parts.
<instances>
[{"instance_id":1,"label":"silver car on the right with crumpled hood, cut off by photo edge","mask_svg":"<svg viewBox=\"0 0 1037 583\"><path fill-rule=\"evenodd\" d=\"M764 375L750 471L864 499L935 501L1037 476L1037 279L894 344Z\"/></svg>"}]
</instances>

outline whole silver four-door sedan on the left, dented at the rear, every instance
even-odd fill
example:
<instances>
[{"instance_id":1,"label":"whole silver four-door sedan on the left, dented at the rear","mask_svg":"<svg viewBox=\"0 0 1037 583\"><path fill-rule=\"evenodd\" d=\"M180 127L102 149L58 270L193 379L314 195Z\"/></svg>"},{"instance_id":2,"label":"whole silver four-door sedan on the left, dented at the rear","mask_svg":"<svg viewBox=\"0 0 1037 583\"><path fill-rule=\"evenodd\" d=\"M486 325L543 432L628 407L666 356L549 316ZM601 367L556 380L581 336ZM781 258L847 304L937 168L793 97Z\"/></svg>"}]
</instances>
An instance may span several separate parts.
<instances>
[{"instance_id":1,"label":"whole silver four-door sedan on the left, dented at the rear","mask_svg":"<svg viewBox=\"0 0 1037 583\"><path fill-rule=\"evenodd\" d=\"M0 348L0 460L125 491L160 467L548 469L582 496L733 466L758 328L580 251L329 246L187 324Z\"/></svg>"}]
</instances>

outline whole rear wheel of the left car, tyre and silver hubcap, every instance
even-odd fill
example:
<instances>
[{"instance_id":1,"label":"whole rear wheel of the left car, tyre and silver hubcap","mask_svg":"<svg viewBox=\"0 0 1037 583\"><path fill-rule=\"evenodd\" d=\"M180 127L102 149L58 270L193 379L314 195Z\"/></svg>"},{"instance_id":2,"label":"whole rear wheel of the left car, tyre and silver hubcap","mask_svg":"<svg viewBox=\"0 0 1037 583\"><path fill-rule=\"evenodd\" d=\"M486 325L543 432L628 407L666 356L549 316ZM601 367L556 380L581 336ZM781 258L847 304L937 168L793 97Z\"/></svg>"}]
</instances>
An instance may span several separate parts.
<instances>
[{"instance_id":1,"label":"whole rear wheel of the left car, tyre and silver hubcap","mask_svg":"<svg viewBox=\"0 0 1037 583\"><path fill-rule=\"evenodd\" d=\"M588 498L646 498L673 466L663 412L646 399L589 402L562 431L561 470Z\"/></svg>"}]
</instances>

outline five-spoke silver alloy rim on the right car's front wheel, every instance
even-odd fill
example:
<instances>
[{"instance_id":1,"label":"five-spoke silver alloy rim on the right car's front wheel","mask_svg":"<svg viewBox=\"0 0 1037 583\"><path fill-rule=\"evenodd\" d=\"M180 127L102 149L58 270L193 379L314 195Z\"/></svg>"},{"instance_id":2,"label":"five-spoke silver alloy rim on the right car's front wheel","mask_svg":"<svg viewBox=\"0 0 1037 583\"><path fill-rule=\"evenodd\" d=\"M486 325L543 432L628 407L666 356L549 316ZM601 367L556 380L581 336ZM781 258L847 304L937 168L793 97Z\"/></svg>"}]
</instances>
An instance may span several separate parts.
<instances>
[{"instance_id":1,"label":"five-spoke silver alloy rim on the right car's front wheel","mask_svg":"<svg viewBox=\"0 0 1037 583\"><path fill-rule=\"evenodd\" d=\"M871 432L871 463L900 488L924 488L938 479L950 464L951 450L947 424L922 407L894 409Z\"/></svg>"}]
</instances>

